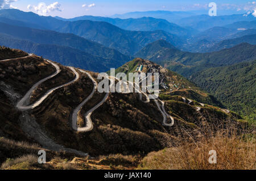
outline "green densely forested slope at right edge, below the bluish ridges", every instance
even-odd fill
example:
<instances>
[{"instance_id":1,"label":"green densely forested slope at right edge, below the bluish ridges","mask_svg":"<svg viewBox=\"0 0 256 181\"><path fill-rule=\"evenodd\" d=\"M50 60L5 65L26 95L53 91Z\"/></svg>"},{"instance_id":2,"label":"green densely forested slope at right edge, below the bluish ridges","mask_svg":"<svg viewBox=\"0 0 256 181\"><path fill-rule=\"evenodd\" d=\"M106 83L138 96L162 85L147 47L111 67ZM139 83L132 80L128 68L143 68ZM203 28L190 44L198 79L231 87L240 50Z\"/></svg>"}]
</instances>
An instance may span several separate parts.
<instances>
[{"instance_id":1,"label":"green densely forested slope at right edge, below the bluish ridges","mask_svg":"<svg viewBox=\"0 0 256 181\"><path fill-rule=\"evenodd\" d=\"M191 81L216 96L230 110L256 120L256 61L207 69Z\"/></svg>"}]
</instances>

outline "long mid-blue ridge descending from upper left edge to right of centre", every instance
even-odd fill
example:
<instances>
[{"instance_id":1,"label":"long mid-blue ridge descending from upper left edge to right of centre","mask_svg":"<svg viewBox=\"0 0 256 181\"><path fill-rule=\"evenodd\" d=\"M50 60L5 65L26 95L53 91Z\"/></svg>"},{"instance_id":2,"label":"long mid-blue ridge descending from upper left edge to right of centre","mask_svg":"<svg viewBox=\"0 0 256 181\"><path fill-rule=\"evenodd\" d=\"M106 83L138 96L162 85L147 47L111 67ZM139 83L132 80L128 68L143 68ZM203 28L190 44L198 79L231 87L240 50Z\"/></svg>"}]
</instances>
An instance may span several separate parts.
<instances>
[{"instance_id":1,"label":"long mid-blue ridge descending from upper left edge to right of centre","mask_svg":"<svg viewBox=\"0 0 256 181\"><path fill-rule=\"evenodd\" d=\"M57 32L73 33L129 55L138 52L146 44L159 39L167 40L174 45L182 44L182 40L179 37L165 31L127 31L106 22L93 22L90 20L65 22L51 16L39 16L32 12L13 9L0 10L0 17L25 23L29 22Z\"/></svg>"}]
</instances>

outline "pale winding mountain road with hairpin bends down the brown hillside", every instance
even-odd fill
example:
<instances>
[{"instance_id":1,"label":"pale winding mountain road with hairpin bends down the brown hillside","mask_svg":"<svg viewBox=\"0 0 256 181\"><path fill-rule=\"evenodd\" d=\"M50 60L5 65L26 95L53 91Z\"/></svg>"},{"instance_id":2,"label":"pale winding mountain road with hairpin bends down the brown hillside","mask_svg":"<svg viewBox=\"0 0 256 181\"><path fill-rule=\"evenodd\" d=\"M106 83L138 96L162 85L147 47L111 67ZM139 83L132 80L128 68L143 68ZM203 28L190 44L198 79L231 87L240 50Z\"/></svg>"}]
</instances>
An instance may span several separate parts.
<instances>
[{"instance_id":1,"label":"pale winding mountain road with hairpin bends down the brown hillside","mask_svg":"<svg viewBox=\"0 0 256 181\"><path fill-rule=\"evenodd\" d=\"M28 54L28 56L26 57L30 57L30 56L33 56L33 54ZM20 57L20 58L26 58L26 57ZM16 58L11 58L11 59L7 59L7 60L1 60L1 61L10 61L10 60L14 60ZM51 95L53 93L53 91L57 90L57 89L60 89L61 87L65 87L65 86L68 86L68 85L71 85L72 83L76 82L79 78L80 78L80 75L79 73L77 73L77 71L72 68L72 67L68 67L69 69L71 69L73 71L73 73L76 75L75 79L73 79L71 82L68 82L68 83L65 83L64 85L61 85L61 86L57 86L57 87L54 87L50 90L48 90L46 92L46 94L44 94L39 100L37 100L34 104L31 104L31 105L27 105L29 104L29 101L30 101L30 96L32 94L32 91L34 91L36 89L36 87L38 87L41 83L47 81L48 79L50 78L53 78L55 77L57 74L60 73L61 69L59 67L59 65L49 61L49 60L46 60L47 62L49 62L49 64L53 65L56 69L55 73L53 73L52 75L49 75L48 77L42 79L41 81L35 83L35 85L33 85L31 87L30 90L28 90L28 92L26 93L26 95L23 96L23 98L21 100L19 100L19 102L16 104L16 107L18 108L18 110L20 111L26 111L26 110L32 110L33 108L35 107L38 107L49 95ZM127 66L129 69L129 66ZM84 71L84 70L81 70L79 69L79 71L81 71L81 73L85 73L88 75L88 77L92 80L93 82L93 90L92 92L90 93L90 95L83 101L79 104L79 106L77 106L75 108L75 110L73 110L73 113L72 113L72 128L75 130L75 131L79 131L79 132L88 132L88 131L91 131L93 129L93 123L92 123L92 120L90 118L90 116L92 115L92 113L97 110L98 107L100 107L102 104L104 104L106 102L106 100L108 99L108 96L110 95L110 92L107 92L106 95L104 96L104 98L101 100L100 103L98 103L96 106L94 106L92 109L90 109L89 111L87 111L84 115L85 117L85 123L86 123L86 126L85 127L77 127L77 119L78 119L78 115L81 111L81 108L82 106L84 106L91 98L92 96L94 95L94 93L96 92L96 89L97 89L97 82L96 80L92 77L92 75L90 75L88 72ZM116 78L116 77L109 77L110 79L117 79L118 81L121 81L120 79ZM112 87L114 85L114 81L110 81L112 82L110 87ZM132 85L134 87L134 89L139 93L139 98L141 101L143 101L144 103L150 103L150 98L149 96L142 92L139 89L136 88L136 86L134 86L134 83L133 82L130 82L130 81L127 81L128 85ZM135 85L137 85L139 87L139 85L137 83L135 83ZM127 90L128 92L128 90ZM146 97L146 100L142 100L142 95L144 95ZM182 97L183 99L183 102L186 103L186 100L189 101L188 104L191 104L193 101L190 100L190 99L186 99L184 97ZM159 105L159 102L162 103L162 106ZM163 125L167 126L167 127L172 127L174 125L174 117L172 117L171 115L168 115L168 113L166 112L165 108L164 108L164 102L160 99L155 99L155 103L156 103L156 106L158 107L159 111L162 113L163 115ZM201 106L204 106L203 103L200 103ZM200 107L196 107L197 110L196 111L200 111L201 108ZM222 111L226 112L226 113L229 113L230 111L229 110L223 110ZM167 117L171 119L171 123L167 123Z\"/></svg>"}]
</instances>

